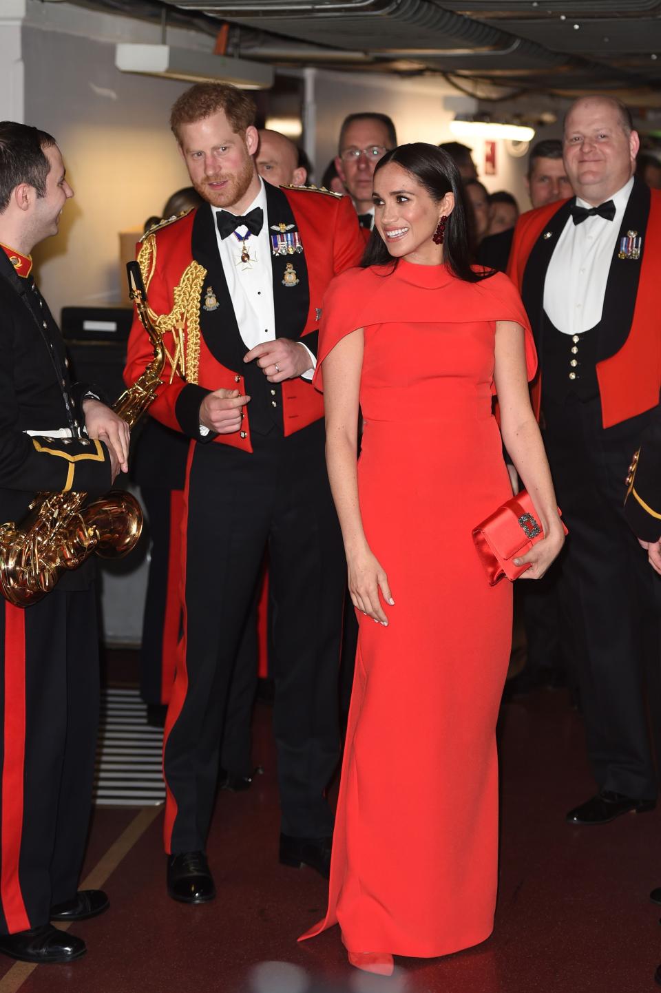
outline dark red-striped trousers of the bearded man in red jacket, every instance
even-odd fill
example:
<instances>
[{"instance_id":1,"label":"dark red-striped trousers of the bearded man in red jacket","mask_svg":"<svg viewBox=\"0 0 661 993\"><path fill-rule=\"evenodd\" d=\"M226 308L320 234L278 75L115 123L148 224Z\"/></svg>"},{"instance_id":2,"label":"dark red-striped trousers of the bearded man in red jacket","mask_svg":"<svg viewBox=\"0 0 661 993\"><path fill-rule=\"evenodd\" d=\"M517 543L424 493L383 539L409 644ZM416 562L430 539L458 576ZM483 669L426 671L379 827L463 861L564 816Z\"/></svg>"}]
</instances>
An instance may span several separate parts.
<instances>
[{"instance_id":1,"label":"dark red-striped trousers of the bearded man in red jacket","mask_svg":"<svg viewBox=\"0 0 661 993\"><path fill-rule=\"evenodd\" d=\"M186 618L166 723L166 848L203 849L230 680L268 546L274 731L282 830L328 836L338 758L337 667L345 564L322 421L253 453L196 446L189 480Z\"/></svg>"}]
</instances>

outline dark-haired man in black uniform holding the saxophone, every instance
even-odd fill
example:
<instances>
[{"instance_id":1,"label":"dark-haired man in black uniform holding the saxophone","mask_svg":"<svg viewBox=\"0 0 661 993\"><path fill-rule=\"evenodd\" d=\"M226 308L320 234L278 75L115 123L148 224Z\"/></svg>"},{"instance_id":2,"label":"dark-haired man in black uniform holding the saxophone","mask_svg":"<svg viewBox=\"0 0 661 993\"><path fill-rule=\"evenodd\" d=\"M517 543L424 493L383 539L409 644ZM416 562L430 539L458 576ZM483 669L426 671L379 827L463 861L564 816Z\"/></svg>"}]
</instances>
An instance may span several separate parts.
<instances>
[{"instance_id":1,"label":"dark-haired man in black uniform holding the saxophone","mask_svg":"<svg viewBox=\"0 0 661 993\"><path fill-rule=\"evenodd\" d=\"M0 122L0 524L37 493L103 493L127 469L128 427L69 382L31 273L72 196L55 139ZM92 579L86 562L27 608L0 600L0 951L28 962L78 958L84 942L51 922L108 906L100 890L76 892L98 717Z\"/></svg>"}]
</instances>

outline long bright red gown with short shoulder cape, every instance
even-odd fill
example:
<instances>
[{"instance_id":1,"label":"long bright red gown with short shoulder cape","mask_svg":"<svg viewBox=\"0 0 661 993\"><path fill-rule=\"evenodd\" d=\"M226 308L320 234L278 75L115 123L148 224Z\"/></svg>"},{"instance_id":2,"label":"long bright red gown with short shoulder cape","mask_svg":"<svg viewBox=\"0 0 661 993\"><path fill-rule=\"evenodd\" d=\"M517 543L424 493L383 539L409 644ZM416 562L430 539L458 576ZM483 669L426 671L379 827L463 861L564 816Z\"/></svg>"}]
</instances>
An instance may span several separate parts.
<instances>
[{"instance_id":1,"label":"long bright red gown with short shoulder cape","mask_svg":"<svg viewBox=\"0 0 661 993\"><path fill-rule=\"evenodd\" d=\"M495 322L525 329L529 378L536 356L503 274L390 271L351 269L324 301L318 370L364 329L360 512L395 606L387 628L358 613L329 909L302 939L338 922L351 951L428 957L493 926L512 588L488 585L471 530L511 496L491 412Z\"/></svg>"}]
</instances>

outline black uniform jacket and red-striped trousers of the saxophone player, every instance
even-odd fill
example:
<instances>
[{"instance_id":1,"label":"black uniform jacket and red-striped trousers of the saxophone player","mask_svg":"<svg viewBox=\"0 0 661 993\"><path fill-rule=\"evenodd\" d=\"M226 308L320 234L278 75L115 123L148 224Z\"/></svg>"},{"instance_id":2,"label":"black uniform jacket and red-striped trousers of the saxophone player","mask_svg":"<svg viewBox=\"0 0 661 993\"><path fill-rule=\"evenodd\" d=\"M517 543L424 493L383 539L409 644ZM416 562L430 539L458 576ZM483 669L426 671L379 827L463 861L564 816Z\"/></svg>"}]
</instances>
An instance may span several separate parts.
<instances>
[{"instance_id":1,"label":"black uniform jacket and red-striped trousers of the saxophone player","mask_svg":"<svg viewBox=\"0 0 661 993\"><path fill-rule=\"evenodd\" d=\"M0 522L38 492L103 493L105 446L80 435L84 384L71 385L62 336L32 279L0 252ZM71 437L31 438L68 427ZM0 598L0 932L45 924L74 897L98 721L93 563L31 607Z\"/></svg>"}]
</instances>

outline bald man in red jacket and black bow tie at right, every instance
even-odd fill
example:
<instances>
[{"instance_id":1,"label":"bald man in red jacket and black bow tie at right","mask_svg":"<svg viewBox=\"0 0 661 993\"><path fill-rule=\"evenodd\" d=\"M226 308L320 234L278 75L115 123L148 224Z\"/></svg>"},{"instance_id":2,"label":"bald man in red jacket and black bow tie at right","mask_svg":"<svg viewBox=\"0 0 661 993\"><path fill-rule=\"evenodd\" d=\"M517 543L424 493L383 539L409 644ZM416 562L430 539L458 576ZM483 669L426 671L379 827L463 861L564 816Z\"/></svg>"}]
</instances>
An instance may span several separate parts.
<instances>
[{"instance_id":1,"label":"bald man in red jacket and black bow tie at right","mask_svg":"<svg viewBox=\"0 0 661 993\"><path fill-rule=\"evenodd\" d=\"M545 444L570 530L560 591L597 792L570 810L602 824L654 807L645 674L658 667L654 573L628 528L624 480L659 402L661 199L634 179L638 135L618 100L584 97L565 120L576 198L524 214L510 274L540 356Z\"/></svg>"}]
</instances>

